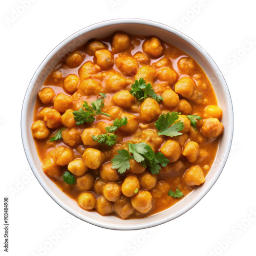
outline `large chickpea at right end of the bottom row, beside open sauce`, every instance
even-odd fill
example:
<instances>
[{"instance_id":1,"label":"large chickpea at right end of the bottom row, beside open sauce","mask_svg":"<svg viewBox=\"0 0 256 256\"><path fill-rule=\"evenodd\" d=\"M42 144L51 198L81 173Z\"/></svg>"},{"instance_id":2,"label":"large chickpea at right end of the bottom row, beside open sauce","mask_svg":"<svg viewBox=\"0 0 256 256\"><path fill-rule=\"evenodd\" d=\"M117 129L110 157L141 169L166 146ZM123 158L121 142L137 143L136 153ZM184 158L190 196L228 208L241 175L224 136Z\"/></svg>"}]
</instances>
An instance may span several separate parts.
<instances>
[{"instance_id":1,"label":"large chickpea at right end of the bottom row, beside open sauce","mask_svg":"<svg viewBox=\"0 0 256 256\"><path fill-rule=\"evenodd\" d=\"M135 210L146 214L152 208L152 195L146 190L140 190L136 196L132 197L131 202Z\"/></svg>"}]
</instances>

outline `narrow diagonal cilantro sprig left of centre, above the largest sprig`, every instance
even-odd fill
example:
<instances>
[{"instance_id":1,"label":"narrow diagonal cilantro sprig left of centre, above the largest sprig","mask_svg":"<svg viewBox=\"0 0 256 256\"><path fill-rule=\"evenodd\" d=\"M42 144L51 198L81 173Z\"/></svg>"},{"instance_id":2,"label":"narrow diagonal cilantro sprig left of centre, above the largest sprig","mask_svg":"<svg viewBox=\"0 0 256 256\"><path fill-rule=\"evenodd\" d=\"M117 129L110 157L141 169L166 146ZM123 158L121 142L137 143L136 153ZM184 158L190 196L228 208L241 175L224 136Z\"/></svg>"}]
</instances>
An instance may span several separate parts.
<instances>
[{"instance_id":1,"label":"narrow diagonal cilantro sprig left of centre, above the largest sprig","mask_svg":"<svg viewBox=\"0 0 256 256\"><path fill-rule=\"evenodd\" d=\"M104 143L108 146L113 146L116 144L117 136L114 134L121 126L127 124L127 117L123 117L121 119L116 118L113 121L113 125L105 127L106 133L96 136L92 136L94 141L98 141L99 143Z\"/></svg>"}]
</instances>

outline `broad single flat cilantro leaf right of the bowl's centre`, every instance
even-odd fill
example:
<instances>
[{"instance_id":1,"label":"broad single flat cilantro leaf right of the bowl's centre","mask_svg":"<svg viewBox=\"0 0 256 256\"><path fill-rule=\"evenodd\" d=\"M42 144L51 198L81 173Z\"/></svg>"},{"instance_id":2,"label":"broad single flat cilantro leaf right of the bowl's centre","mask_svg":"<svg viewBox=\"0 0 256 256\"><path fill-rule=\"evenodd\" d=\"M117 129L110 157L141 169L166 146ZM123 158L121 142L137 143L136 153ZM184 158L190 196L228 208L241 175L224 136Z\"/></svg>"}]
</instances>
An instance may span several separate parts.
<instances>
[{"instance_id":1,"label":"broad single flat cilantro leaf right of the bowl's centre","mask_svg":"<svg viewBox=\"0 0 256 256\"><path fill-rule=\"evenodd\" d=\"M169 137L182 135L180 131L183 129L184 124L178 120L178 118L179 113L177 112L168 112L166 115L162 114L155 123L157 130L159 131L158 135L166 135Z\"/></svg>"}]
</instances>

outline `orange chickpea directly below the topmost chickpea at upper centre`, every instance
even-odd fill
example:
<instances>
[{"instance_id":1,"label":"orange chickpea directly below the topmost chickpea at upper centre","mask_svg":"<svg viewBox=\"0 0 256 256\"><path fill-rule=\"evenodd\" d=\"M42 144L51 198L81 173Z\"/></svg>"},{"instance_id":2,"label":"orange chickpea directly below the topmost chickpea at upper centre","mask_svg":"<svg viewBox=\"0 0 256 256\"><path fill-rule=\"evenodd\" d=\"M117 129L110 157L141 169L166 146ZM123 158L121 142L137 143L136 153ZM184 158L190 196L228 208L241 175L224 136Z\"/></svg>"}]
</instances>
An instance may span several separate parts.
<instances>
[{"instance_id":1,"label":"orange chickpea directly below the topmost chickpea at upper centre","mask_svg":"<svg viewBox=\"0 0 256 256\"><path fill-rule=\"evenodd\" d=\"M116 58L116 67L125 76L133 76L138 71L138 62L130 56L119 56Z\"/></svg>"}]
</instances>

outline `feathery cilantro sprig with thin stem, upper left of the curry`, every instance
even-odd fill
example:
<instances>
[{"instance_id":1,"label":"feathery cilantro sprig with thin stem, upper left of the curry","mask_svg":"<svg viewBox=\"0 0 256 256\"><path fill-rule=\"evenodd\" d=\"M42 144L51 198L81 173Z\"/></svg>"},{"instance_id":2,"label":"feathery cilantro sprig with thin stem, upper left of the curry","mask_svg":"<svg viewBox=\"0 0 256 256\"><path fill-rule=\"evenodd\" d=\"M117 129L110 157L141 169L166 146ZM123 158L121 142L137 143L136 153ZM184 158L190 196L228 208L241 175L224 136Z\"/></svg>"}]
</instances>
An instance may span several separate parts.
<instances>
[{"instance_id":1,"label":"feathery cilantro sprig with thin stem, upper left of the curry","mask_svg":"<svg viewBox=\"0 0 256 256\"><path fill-rule=\"evenodd\" d=\"M104 93L100 93L100 96L105 98ZM74 111L74 119L76 120L76 125L83 124L84 122L91 123L95 120L96 115L104 115L110 117L109 114L106 114L101 111L101 109L104 106L104 101L102 98L99 98L91 103L91 106L84 101L84 104L82 105L84 107L84 110L82 107L78 111Z\"/></svg>"}]
</instances>

